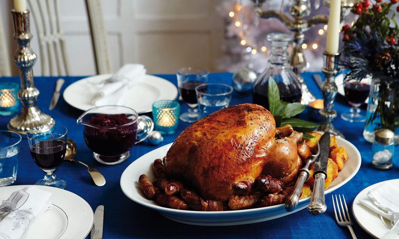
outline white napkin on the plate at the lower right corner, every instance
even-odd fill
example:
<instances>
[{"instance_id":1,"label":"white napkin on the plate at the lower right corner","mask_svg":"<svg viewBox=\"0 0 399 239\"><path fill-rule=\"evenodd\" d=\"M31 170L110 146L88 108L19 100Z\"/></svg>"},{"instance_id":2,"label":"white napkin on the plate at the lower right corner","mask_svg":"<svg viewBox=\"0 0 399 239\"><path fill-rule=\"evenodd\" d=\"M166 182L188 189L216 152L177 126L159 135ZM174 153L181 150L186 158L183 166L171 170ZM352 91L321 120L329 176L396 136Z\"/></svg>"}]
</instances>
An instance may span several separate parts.
<instances>
[{"instance_id":1,"label":"white napkin on the plate at the lower right corner","mask_svg":"<svg viewBox=\"0 0 399 239\"><path fill-rule=\"evenodd\" d=\"M399 187L385 182L367 193L367 200L359 200L361 204L373 212L391 220L392 229L383 239L397 238L399 235Z\"/></svg>"}]
</instances>

